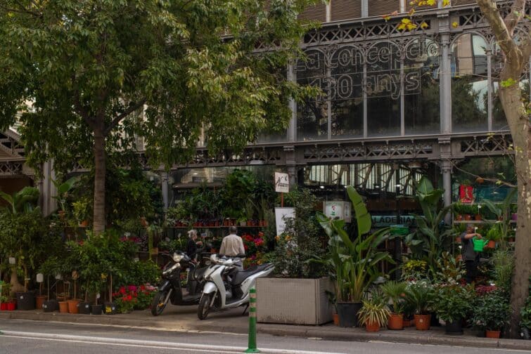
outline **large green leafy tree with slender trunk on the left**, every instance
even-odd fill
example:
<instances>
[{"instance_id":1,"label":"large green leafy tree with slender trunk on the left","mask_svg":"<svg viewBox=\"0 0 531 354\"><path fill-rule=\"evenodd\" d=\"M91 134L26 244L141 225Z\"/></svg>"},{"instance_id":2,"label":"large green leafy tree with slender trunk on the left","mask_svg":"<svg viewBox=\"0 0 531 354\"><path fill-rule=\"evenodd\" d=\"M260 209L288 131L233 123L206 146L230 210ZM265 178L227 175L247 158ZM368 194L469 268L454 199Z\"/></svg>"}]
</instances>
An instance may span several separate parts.
<instances>
[{"instance_id":1,"label":"large green leafy tree with slender trunk on the left","mask_svg":"<svg viewBox=\"0 0 531 354\"><path fill-rule=\"evenodd\" d=\"M0 128L25 102L28 162L94 168L94 232L105 229L106 155L145 138L153 164L241 150L286 128L286 79L317 0L5 0L0 4ZM225 35L230 34L230 36ZM256 48L274 51L256 52Z\"/></svg>"}]
</instances>

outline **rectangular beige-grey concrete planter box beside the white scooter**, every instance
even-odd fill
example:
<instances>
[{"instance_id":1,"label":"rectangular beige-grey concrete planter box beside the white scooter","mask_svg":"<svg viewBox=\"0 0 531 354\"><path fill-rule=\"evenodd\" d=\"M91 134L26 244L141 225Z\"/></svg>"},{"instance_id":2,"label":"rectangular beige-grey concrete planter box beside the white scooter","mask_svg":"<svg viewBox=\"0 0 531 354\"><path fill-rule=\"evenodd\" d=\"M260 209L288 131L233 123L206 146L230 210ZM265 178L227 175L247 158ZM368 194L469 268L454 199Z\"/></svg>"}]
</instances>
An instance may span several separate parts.
<instances>
[{"instance_id":1,"label":"rectangular beige-grey concrete planter box beside the white scooter","mask_svg":"<svg viewBox=\"0 0 531 354\"><path fill-rule=\"evenodd\" d=\"M332 321L326 290L330 279L258 278L257 321L288 325L322 325Z\"/></svg>"}]
</instances>

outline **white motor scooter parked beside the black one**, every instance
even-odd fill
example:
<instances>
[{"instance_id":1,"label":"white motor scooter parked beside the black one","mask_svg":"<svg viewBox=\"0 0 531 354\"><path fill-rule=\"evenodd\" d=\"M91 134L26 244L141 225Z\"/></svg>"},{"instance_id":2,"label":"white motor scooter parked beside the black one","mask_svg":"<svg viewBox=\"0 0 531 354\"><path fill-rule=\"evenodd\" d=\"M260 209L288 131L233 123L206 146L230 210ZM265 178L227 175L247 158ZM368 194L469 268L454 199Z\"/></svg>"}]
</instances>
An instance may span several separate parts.
<instances>
[{"instance_id":1,"label":"white motor scooter parked beside the black one","mask_svg":"<svg viewBox=\"0 0 531 354\"><path fill-rule=\"evenodd\" d=\"M210 309L224 310L248 306L249 289L255 285L257 278L269 275L274 265L265 263L253 265L246 270L236 270L240 258L210 256L210 267L205 270L205 285L199 300L198 317L207 318Z\"/></svg>"}]
</instances>

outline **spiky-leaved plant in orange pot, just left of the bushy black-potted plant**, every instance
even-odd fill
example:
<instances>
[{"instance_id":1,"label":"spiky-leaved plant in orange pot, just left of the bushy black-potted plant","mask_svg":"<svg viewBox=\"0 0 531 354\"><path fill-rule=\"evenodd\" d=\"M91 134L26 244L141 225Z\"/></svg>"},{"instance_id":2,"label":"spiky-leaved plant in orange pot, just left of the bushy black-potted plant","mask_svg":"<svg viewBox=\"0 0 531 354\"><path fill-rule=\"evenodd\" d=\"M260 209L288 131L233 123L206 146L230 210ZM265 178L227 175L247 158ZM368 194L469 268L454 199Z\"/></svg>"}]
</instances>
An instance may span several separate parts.
<instances>
[{"instance_id":1,"label":"spiky-leaved plant in orange pot, just left of the bushy black-potted plant","mask_svg":"<svg viewBox=\"0 0 531 354\"><path fill-rule=\"evenodd\" d=\"M426 280L411 283L406 289L406 299L415 308L415 327L420 331L430 329L430 303L433 299L433 286Z\"/></svg>"}]
</instances>

